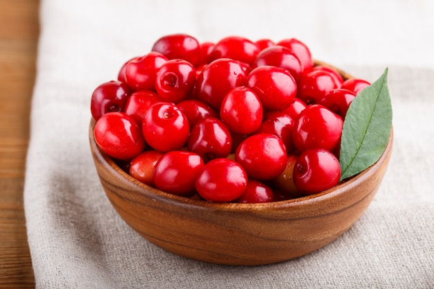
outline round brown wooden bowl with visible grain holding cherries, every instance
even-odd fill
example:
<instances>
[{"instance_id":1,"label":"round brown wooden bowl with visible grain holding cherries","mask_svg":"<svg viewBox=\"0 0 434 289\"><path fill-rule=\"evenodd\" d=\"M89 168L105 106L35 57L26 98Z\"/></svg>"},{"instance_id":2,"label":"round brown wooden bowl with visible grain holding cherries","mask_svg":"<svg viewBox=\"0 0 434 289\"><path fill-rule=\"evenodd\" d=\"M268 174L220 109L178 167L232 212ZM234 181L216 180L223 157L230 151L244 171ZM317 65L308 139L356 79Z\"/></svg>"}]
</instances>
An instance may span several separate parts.
<instances>
[{"instance_id":1,"label":"round brown wooden bowl with visible grain holding cherries","mask_svg":"<svg viewBox=\"0 0 434 289\"><path fill-rule=\"evenodd\" d=\"M190 259L263 265L309 254L341 236L374 198L388 166L393 134L370 168L333 189L264 204L215 203L143 184L89 142L103 189L121 218L151 243Z\"/></svg>"}]
</instances>

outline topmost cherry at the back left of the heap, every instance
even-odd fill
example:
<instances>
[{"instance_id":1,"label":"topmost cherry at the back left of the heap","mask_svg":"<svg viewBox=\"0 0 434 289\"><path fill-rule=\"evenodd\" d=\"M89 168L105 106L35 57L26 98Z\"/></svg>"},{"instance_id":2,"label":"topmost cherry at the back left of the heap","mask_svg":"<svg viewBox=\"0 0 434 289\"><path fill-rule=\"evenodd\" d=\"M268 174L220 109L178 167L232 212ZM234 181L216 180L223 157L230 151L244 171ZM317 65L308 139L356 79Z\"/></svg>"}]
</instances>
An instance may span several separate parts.
<instances>
[{"instance_id":1,"label":"topmost cherry at the back left of the heap","mask_svg":"<svg viewBox=\"0 0 434 289\"><path fill-rule=\"evenodd\" d=\"M195 37L186 34L172 34L161 37L153 45L152 51L161 53L168 60L186 60L193 67L196 67L200 62L200 44Z\"/></svg>"}]
</instances>

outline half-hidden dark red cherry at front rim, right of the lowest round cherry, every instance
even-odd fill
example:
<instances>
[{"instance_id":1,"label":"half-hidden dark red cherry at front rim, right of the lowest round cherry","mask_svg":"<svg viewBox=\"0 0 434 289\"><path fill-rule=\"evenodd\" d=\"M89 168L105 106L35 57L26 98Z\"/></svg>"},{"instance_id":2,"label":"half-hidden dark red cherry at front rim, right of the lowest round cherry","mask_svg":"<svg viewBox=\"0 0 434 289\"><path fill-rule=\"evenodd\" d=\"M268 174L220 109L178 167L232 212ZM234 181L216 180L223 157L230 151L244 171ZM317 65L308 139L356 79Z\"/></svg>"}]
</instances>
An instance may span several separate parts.
<instances>
[{"instance_id":1,"label":"half-hidden dark red cherry at front rim, right of the lowest round cherry","mask_svg":"<svg viewBox=\"0 0 434 289\"><path fill-rule=\"evenodd\" d=\"M235 202L243 204L257 204L262 202L272 202L274 194L265 184L256 179L248 179L247 186L243 195L238 197Z\"/></svg>"}]
</instances>

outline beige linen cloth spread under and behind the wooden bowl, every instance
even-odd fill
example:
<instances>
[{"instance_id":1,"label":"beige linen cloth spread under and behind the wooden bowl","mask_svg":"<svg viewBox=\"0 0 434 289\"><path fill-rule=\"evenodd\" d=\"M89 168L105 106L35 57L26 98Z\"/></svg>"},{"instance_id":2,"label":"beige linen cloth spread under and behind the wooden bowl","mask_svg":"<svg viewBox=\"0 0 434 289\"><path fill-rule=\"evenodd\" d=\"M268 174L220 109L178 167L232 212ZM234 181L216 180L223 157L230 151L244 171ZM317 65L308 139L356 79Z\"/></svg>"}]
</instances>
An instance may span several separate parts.
<instances>
[{"instance_id":1,"label":"beige linen cloth spread under and behind the wooden bowl","mask_svg":"<svg viewBox=\"0 0 434 289\"><path fill-rule=\"evenodd\" d=\"M433 2L358 2L42 0L24 189L37 288L434 288ZM298 37L370 81L389 67L392 159L351 229L245 268L165 252L116 215L89 151L90 96L168 33Z\"/></svg>"}]
</instances>

